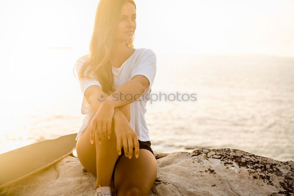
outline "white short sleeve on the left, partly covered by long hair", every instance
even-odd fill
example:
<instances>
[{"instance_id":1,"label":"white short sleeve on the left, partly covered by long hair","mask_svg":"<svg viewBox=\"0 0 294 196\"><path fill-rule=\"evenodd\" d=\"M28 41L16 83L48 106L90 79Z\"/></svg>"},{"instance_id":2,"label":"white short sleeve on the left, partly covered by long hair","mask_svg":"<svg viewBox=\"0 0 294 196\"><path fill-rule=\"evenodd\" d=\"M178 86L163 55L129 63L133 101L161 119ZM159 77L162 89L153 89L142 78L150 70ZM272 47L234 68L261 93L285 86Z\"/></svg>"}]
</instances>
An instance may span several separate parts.
<instances>
[{"instance_id":1,"label":"white short sleeve on the left, partly covered by long hair","mask_svg":"<svg viewBox=\"0 0 294 196\"><path fill-rule=\"evenodd\" d=\"M78 73L85 62L86 62L86 59L84 59L84 58L79 58L75 62L74 72L75 72L77 78L78 78ZM84 74L86 74L86 71L84 72ZM90 75L90 77L93 77L93 75ZM86 79L86 78L78 79L78 87L81 90L82 96L83 96L83 102L82 102L82 107L81 107L82 114L88 114L92 109L91 105L88 103L88 101L85 97L85 91L91 85L98 85L102 88L101 84L95 79Z\"/></svg>"}]
</instances>

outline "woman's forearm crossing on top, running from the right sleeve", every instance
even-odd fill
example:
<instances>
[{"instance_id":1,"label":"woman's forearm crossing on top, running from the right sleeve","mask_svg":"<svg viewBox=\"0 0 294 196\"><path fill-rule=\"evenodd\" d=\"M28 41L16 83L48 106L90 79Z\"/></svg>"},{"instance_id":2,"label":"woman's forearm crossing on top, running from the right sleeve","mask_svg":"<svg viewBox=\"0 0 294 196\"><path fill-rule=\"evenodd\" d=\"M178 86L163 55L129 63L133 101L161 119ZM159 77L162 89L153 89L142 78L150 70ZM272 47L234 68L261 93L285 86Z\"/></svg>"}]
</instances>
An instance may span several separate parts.
<instances>
[{"instance_id":1,"label":"woman's forearm crossing on top, running from the right sleeve","mask_svg":"<svg viewBox=\"0 0 294 196\"><path fill-rule=\"evenodd\" d=\"M141 97L146 87L136 80L130 80L119 87L115 92L106 98L106 104L114 108L134 102Z\"/></svg>"}]
</instances>

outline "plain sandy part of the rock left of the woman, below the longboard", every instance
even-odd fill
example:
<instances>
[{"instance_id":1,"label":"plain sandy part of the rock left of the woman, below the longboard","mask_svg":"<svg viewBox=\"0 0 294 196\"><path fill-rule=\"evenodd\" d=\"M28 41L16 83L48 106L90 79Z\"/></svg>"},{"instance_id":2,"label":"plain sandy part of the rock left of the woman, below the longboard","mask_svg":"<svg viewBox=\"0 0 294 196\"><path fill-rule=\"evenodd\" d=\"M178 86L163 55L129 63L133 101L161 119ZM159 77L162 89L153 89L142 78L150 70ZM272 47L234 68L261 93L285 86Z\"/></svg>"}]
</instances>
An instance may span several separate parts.
<instances>
[{"instance_id":1,"label":"plain sandy part of the rock left of the woman, below the longboard","mask_svg":"<svg viewBox=\"0 0 294 196\"><path fill-rule=\"evenodd\" d=\"M0 190L0 195L94 195L96 177L78 158L67 156L55 164ZM2 191L2 192L1 192Z\"/></svg>"}]
</instances>

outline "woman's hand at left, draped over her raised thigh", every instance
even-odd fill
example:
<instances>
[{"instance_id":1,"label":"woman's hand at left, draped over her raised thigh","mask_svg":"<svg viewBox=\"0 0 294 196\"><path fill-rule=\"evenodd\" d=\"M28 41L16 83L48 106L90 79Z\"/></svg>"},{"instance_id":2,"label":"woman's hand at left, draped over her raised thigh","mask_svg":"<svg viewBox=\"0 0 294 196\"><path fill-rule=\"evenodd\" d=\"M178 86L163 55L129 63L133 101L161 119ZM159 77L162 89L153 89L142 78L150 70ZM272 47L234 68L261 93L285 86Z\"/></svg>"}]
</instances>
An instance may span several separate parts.
<instances>
[{"instance_id":1,"label":"woman's hand at left, draped over her raised thigh","mask_svg":"<svg viewBox=\"0 0 294 196\"><path fill-rule=\"evenodd\" d=\"M93 117L91 130L90 130L90 142L93 144L95 139L95 132L98 137L98 143L102 143L101 134L103 139L106 139L106 130L108 132L108 139L111 136L111 123L114 114L114 107L109 102L103 102L96 114Z\"/></svg>"}]
</instances>

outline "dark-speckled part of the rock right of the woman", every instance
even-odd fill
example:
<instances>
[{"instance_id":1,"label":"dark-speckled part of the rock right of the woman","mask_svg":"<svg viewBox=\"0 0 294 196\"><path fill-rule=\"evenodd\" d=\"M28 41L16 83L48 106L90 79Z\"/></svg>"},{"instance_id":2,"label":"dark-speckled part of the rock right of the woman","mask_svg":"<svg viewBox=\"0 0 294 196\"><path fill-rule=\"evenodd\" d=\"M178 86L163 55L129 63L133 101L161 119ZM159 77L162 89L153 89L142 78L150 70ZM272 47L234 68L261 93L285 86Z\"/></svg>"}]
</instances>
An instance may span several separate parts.
<instances>
[{"instance_id":1,"label":"dark-speckled part of the rock right of the woman","mask_svg":"<svg viewBox=\"0 0 294 196\"><path fill-rule=\"evenodd\" d=\"M157 160L150 195L294 195L293 163L230 148L173 152Z\"/></svg>"}]
</instances>

